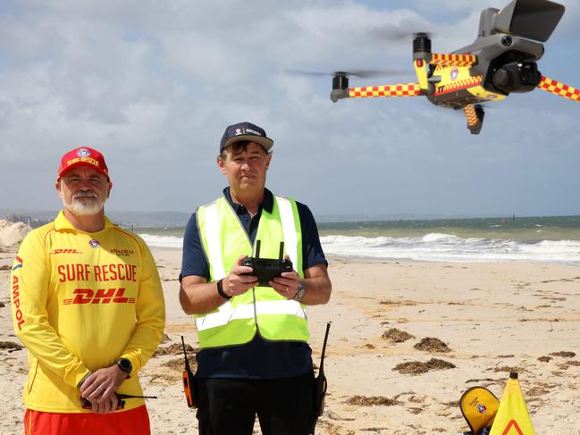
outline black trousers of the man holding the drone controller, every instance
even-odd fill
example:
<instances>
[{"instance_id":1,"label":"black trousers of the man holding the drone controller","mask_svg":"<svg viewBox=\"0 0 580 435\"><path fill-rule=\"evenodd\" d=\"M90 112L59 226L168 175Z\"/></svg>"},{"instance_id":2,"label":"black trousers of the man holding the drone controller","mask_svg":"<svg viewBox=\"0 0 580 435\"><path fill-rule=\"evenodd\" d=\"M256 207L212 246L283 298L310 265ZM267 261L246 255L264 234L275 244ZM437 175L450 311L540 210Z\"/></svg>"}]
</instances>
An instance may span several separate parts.
<instances>
[{"instance_id":1,"label":"black trousers of the man holding the drone controller","mask_svg":"<svg viewBox=\"0 0 580 435\"><path fill-rule=\"evenodd\" d=\"M274 380L197 379L199 435L310 435L314 372Z\"/></svg>"}]
</instances>

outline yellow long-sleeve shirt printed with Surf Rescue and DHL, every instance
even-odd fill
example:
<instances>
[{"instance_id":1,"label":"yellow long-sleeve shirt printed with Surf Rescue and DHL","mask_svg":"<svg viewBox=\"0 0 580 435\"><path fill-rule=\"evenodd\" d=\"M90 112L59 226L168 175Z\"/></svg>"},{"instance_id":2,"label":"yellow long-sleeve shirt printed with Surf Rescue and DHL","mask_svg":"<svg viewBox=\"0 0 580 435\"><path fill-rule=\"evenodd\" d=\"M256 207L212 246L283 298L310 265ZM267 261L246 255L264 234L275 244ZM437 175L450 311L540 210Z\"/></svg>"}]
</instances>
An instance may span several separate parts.
<instances>
[{"instance_id":1,"label":"yellow long-sleeve shirt printed with Surf Rescue and DHL","mask_svg":"<svg viewBox=\"0 0 580 435\"><path fill-rule=\"evenodd\" d=\"M88 412L81 379L119 358L133 364L119 393L142 395L137 372L163 337L165 312L153 256L114 226L75 230L63 212L22 241L13 265L14 330L29 351L24 403L52 413ZM143 405L127 400L125 410Z\"/></svg>"}]
</instances>

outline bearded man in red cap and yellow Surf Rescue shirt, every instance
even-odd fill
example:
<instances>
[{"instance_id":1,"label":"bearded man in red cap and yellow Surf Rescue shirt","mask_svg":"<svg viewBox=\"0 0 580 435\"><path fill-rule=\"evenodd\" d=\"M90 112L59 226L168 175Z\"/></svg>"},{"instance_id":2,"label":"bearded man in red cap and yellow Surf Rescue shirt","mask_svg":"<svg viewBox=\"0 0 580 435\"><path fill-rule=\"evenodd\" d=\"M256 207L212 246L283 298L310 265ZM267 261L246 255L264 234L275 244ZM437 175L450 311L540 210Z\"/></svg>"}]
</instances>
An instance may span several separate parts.
<instances>
[{"instance_id":1,"label":"bearded man in red cap and yellow Surf Rescue shirt","mask_svg":"<svg viewBox=\"0 0 580 435\"><path fill-rule=\"evenodd\" d=\"M145 242L104 212L104 156L63 155L63 211L22 241L11 276L13 324L29 352L27 435L148 435L139 370L163 338L161 281ZM85 400L83 400L85 399ZM118 409L119 407L119 409Z\"/></svg>"}]
</instances>

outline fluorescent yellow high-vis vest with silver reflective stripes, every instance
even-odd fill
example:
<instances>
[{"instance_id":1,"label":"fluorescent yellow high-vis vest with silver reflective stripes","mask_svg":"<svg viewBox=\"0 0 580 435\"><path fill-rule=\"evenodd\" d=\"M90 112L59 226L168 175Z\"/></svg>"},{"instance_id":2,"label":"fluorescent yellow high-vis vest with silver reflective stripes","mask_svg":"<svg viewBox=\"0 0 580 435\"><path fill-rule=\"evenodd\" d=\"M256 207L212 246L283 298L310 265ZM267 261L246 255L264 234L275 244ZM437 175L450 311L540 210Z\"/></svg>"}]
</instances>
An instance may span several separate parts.
<instances>
[{"instance_id":1,"label":"fluorescent yellow high-vis vest with silver reflective stripes","mask_svg":"<svg viewBox=\"0 0 580 435\"><path fill-rule=\"evenodd\" d=\"M206 252L210 281L220 280L240 255L253 255L248 234L225 198L198 208L198 229ZM260 257L277 258L280 242L300 277L302 272L302 234L296 202L274 197L272 213L262 210L256 240L261 241ZM269 287L256 287L232 297L211 313L196 315L199 346L224 347L243 344L259 330L271 340L306 341L305 305L287 300ZM257 325L257 328L256 328Z\"/></svg>"}]
</instances>

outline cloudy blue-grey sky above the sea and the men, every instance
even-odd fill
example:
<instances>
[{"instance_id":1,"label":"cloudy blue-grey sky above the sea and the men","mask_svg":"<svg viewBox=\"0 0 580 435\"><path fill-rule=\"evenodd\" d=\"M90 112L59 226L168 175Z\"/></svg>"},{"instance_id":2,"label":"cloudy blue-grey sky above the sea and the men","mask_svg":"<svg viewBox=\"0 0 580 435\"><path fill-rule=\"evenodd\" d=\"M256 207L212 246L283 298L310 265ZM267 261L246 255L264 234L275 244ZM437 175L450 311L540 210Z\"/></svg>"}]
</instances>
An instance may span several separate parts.
<instances>
[{"instance_id":1,"label":"cloudy blue-grey sky above the sea and the men","mask_svg":"<svg viewBox=\"0 0 580 435\"><path fill-rule=\"evenodd\" d=\"M424 97L333 104L331 76L397 69L411 35L468 46L507 0L3 0L0 208L56 210L55 174L76 146L105 154L109 211L194 211L227 184L229 124L273 138L267 187L315 215L580 214L580 105L541 90L462 112ZM545 43L542 74L580 87L580 2ZM391 30L408 38L391 38Z\"/></svg>"}]
</instances>

